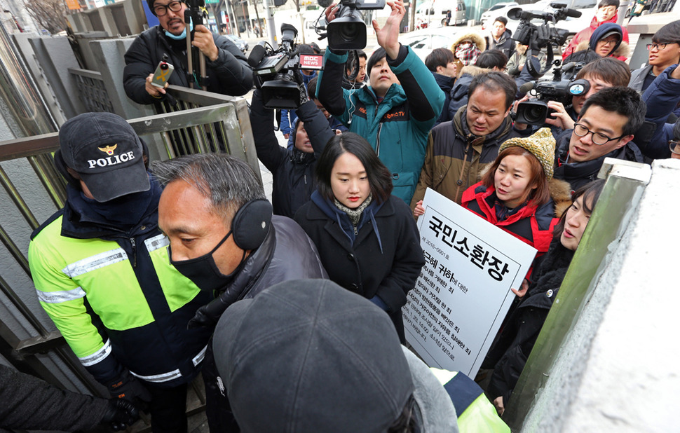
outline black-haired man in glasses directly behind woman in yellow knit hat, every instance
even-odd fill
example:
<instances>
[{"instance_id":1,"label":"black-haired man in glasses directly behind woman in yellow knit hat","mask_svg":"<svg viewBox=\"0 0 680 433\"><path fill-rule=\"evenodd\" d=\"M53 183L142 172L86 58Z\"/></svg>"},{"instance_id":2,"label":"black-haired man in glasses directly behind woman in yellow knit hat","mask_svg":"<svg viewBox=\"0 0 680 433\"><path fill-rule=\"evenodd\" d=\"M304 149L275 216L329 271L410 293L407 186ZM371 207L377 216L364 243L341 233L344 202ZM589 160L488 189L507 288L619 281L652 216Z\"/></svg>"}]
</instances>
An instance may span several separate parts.
<instances>
[{"instance_id":1,"label":"black-haired man in glasses directly behind woman in yellow knit hat","mask_svg":"<svg viewBox=\"0 0 680 433\"><path fill-rule=\"evenodd\" d=\"M642 162L631 142L644 122L646 106L631 88L602 89L588 98L571 135L562 135L555 152L555 179L573 190L597 178L604 158Z\"/></svg>"}]
</instances>

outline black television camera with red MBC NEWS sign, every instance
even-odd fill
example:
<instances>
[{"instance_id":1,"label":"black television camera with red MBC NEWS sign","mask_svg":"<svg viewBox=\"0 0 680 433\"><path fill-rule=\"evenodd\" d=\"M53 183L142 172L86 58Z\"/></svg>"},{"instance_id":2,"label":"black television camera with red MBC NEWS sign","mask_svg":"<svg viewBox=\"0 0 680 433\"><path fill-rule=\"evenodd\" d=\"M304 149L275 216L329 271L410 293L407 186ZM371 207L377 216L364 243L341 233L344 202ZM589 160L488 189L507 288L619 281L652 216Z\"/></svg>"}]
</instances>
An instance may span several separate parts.
<instances>
[{"instance_id":1,"label":"black television camera with red MBC NEWS sign","mask_svg":"<svg viewBox=\"0 0 680 433\"><path fill-rule=\"evenodd\" d=\"M266 42L252 48L248 64L253 69L255 87L261 89L268 109L296 109L306 100L300 69L322 69L323 56L300 54L295 50L297 29L281 25L281 46L274 50Z\"/></svg>"}]
</instances>

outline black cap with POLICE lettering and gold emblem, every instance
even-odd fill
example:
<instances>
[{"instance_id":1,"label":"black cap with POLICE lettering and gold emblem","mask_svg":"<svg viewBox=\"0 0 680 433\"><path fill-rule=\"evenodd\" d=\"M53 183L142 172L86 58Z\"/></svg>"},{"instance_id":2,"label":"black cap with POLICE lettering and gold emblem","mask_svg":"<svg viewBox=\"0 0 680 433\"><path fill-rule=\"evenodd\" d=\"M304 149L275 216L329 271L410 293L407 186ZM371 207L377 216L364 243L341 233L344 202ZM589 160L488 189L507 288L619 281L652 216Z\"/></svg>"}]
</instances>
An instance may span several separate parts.
<instances>
[{"instance_id":1,"label":"black cap with POLICE lettering and gold emblem","mask_svg":"<svg viewBox=\"0 0 680 433\"><path fill-rule=\"evenodd\" d=\"M121 116L85 113L59 130L61 158L98 202L149 191L140 137Z\"/></svg>"}]
</instances>

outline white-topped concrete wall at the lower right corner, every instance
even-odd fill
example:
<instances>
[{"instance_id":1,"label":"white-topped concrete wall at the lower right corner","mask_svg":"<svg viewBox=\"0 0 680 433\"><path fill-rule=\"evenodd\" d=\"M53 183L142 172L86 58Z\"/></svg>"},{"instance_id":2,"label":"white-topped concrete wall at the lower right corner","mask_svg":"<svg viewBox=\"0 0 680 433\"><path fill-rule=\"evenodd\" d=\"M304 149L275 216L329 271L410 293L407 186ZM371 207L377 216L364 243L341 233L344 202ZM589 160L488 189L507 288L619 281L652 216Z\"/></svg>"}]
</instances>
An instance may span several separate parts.
<instances>
[{"instance_id":1,"label":"white-topped concrete wall at the lower right corner","mask_svg":"<svg viewBox=\"0 0 680 433\"><path fill-rule=\"evenodd\" d=\"M611 246L522 431L678 430L678 179L680 160L653 163L640 204Z\"/></svg>"}]
</instances>

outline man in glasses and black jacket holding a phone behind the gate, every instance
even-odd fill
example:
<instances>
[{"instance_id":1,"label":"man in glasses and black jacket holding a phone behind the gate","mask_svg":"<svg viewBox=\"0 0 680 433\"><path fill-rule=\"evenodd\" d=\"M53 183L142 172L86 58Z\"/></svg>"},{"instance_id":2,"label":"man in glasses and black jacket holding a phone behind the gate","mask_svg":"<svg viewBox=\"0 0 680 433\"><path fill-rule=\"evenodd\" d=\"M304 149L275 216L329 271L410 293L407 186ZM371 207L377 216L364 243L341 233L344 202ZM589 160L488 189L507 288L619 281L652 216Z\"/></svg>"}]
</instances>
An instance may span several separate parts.
<instances>
[{"instance_id":1,"label":"man in glasses and black jacket holding a phone behind the gate","mask_svg":"<svg viewBox=\"0 0 680 433\"><path fill-rule=\"evenodd\" d=\"M194 88L206 85L208 91L222 95L245 95L252 88L252 69L238 47L226 36L210 32L204 25L187 29L184 23L186 3L178 0L147 0L159 25L142 32L125 53L123 87L138 104L153 104L165 96L165 88L151 85L158 62L167 56L175 67L169 84ZM208 80L199 79L198 58L193 59L193 76L188 76L186 37L193 31L192 45L205 55ZM189 36L191 37L191 36Z\"/></svg>"}]
</instances>

